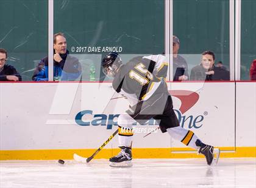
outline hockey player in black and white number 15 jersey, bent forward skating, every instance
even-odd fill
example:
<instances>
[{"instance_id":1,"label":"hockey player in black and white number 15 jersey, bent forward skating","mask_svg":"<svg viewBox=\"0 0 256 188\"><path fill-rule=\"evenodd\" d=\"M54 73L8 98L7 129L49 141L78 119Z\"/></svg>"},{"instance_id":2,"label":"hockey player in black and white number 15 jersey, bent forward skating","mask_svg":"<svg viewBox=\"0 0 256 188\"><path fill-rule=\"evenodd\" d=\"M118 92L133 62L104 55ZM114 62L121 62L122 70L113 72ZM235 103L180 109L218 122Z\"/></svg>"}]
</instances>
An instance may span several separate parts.
<instances>
[{"instance_id":1,"label":"hockey player in black and white number 15 jersey, bent forward skating","mask_svg":"<svg viewBox=\"0 0 256 188\"><path fill-rule=\"evenodd\" d=\"M191 131L180 127L172 109L172 98L165 82L168 64L163 55L137 56L123 64L118 53L108 53L102 59L105 75L113 77L116 92L126 96L130 102L126 114L118 117L118 140L121 152L110 158L110 166L131 166L132 123L146 123L154 118L160 130L172 138L205 155L207 164L212 164L213 146L202 141ZM219 151L219 150L218 150Z\"/></svg>"}]
</instances>

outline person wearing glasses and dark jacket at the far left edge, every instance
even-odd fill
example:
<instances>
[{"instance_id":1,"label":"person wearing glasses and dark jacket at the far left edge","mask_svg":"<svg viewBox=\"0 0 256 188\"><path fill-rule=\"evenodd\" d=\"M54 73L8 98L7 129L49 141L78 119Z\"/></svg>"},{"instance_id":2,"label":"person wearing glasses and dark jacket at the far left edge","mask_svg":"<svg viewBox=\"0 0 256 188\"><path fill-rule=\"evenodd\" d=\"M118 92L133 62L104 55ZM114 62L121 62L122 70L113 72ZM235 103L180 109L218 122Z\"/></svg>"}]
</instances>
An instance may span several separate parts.
<instances>
[{"instance_id":1,"label":"person wearing glasses and dark jacket at the far left edge","mask_svg":"<svg viewBox=\"0 0 256 188\"><path fill-rule=\"evenodd\" d=\"M12 66L5 64L7 51L0 49L0 81L21 81L21 75Z\"/></svg>"}]
</instances>

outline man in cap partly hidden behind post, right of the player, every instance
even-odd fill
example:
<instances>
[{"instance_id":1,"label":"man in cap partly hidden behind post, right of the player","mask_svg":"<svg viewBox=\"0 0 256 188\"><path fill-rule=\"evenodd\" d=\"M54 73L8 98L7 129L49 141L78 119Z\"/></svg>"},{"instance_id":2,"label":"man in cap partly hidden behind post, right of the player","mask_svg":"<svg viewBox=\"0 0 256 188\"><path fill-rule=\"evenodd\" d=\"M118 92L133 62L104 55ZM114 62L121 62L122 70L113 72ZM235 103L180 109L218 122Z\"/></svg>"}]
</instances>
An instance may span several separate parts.
<instances>
[{"instance_id":1,"label":"man in cap partly hidden behind post, right of the player","mask_svg":"<svg viewBox=\"0 0 256 188\"><path fill-rule=\"evenodd\" d=\"M188 64L182 56L178 55L180 49L180 40L177 36L172 37L173 54L173 80L185 81L188 79Z\"/></svg>"}]
</instances>

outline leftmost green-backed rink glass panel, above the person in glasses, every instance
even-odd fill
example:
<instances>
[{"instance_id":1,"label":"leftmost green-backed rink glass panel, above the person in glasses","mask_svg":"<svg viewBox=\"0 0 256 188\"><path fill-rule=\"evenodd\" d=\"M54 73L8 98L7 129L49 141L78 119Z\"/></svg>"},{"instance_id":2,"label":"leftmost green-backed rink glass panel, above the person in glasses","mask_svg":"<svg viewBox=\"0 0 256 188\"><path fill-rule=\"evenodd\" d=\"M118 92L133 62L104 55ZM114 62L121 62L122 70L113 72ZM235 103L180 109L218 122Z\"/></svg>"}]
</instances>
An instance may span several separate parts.
<instances>
[{"instance_id":1,"label":"leftmost green-backed rink glass panel, above the person in glasses","mask_svg":"<svg viewBox=\"0 0 256 188\"><path fill-rule=\"evenodd\" d=\"M48 55L48 0L1 0L0 25L6 63L31 81L35 66Z\"/></svg>"}]
</instances>

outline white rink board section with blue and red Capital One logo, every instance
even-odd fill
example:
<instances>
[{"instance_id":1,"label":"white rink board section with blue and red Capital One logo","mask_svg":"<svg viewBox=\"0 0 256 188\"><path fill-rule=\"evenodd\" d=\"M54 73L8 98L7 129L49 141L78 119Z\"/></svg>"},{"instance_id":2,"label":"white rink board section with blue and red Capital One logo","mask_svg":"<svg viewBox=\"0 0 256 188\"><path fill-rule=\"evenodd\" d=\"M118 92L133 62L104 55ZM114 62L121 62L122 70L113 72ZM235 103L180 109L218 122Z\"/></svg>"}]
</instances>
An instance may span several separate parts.
<instances>
[{"instance_id":1,"label":"white rink board section with blue and red Capital One logo","mask_svg":"<svg viewBox=\"0 0 256 188\"><path fill-rule=\"evenodd\" d=\"M180 126L214 146L235 146L233 83L172 82L168 92ZM1 150L98 148L128 107L110 82L1 84ZM154 119L134 123L133 147L184 147L157 127ZM116 136L106 148L117 146Z\"/></svg>"}]
</instances>

